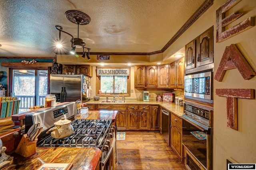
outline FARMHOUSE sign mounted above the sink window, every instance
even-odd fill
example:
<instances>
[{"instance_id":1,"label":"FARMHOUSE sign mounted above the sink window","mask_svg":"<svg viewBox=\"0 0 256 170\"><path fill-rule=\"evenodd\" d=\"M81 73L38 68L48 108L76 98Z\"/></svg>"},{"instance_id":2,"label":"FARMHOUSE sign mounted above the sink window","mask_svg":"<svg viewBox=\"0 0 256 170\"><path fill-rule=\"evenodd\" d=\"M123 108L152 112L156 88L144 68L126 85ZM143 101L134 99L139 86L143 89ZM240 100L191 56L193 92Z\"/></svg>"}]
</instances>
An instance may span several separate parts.
<instances>
[{"instance_id":1,"label":"FARMHOUSE sign mounted above the sink window","mask_svg":"<svg viewBox=\"0 0 256 170\"><path fill-rule=\"evenodd\" d=\"M97 76L129 76L129 68L98 68Z\"/></svg>"}]
</instances>

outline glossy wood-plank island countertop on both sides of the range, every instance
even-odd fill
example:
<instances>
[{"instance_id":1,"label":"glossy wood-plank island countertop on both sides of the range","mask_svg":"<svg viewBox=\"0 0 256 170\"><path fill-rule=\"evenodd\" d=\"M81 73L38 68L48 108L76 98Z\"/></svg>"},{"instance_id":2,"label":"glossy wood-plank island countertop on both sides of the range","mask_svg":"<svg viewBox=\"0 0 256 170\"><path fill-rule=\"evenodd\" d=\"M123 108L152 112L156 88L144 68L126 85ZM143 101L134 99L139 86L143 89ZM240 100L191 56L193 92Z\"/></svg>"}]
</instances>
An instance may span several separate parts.
<instances>
[{"instance_id":1,"label":"glossy wood-plank island countertop on both sides of the range","mask_svg":"<svg viewBox=\"0 0 256 170\"><path fill-rule=\"evenodd\" d=\"M116 119L117 111L89 111L76 119ZM13 153L8 160L11 162L3 170L36 170L43 163L73 163L72 170L97 170L102 152L95 147L37 147L36 154L25 158Z\"/></svg>"}]
</instances>

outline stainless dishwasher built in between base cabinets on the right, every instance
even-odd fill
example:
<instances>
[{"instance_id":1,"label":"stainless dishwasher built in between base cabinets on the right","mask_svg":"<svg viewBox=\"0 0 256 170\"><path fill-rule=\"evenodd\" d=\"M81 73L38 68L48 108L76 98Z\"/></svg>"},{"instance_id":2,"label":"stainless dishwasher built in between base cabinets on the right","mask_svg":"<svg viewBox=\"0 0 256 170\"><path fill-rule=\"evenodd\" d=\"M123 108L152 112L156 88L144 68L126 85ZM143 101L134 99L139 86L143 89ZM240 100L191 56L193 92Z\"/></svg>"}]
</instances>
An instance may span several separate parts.
<instances>
[{"instance_id":1,"label":"stainless dishwasher built in between base cabinets on the right","mask_svg":"<svg viewBox=\"0 0 256 170\"><path fill-rule=\"evenodd\" d=\"M166 143L170 146L170 137L169 137L169 129L170 129L170 112L162 109L162 135Z\"/></svg>"}]
</instances>

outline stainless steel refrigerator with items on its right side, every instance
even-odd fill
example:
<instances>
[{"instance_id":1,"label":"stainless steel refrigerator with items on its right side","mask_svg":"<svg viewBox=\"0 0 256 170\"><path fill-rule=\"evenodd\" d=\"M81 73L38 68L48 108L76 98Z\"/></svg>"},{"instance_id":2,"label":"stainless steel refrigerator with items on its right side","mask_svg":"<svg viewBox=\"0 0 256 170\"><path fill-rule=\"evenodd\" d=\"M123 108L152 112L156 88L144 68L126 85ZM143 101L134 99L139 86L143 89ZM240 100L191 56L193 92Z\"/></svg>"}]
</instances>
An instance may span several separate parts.
<instances>
[{"instance_id":1,"label":"stainless steel refrigerator with items on its right side","mask_svg":"<svg viewBox=\"0 0 256 170\"><path fill-rule=\"evenodd\" d=\"M56 102L82 102L90 100L90 77L82 74L51 74L50 94L55 94Z\"/></svg>"}]
</instances>

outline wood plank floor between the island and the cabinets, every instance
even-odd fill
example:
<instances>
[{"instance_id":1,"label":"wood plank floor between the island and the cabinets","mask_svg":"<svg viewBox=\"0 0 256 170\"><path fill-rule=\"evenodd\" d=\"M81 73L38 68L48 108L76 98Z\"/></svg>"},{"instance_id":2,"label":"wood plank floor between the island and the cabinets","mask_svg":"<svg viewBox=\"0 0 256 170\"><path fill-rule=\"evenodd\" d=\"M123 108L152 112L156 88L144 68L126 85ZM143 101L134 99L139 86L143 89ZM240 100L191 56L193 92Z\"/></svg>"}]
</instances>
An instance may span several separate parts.
<instances>
[{"instance_id":1,"label":"wood plank floor between the island and the cabinets","mask_svg":"<svg viewBox=\"0 0 256 170\"><path fill-rule=\"evenodd\" d=\"M116 147L118 170L185 170L160 132L126 131Z\"/></svg>"}]
</instances>

